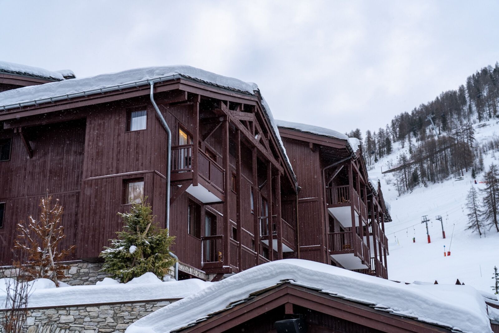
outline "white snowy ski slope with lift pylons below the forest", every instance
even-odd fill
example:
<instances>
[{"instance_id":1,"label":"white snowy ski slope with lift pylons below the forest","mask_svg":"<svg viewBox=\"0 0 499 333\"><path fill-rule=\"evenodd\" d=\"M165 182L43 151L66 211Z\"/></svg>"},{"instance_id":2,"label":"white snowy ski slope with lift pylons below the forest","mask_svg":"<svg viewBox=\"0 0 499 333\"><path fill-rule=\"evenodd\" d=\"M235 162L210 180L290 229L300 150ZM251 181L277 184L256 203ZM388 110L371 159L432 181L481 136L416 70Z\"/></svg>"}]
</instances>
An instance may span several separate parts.
<instances>
[{"instance_id":1,"label":"white snowy ski slope with lift pylons below the forest","mask_svg":"<svg viewBox=\"0 0 499 333\"><path fill-rule=\"evenodd\" d=\"M484 126L485 125L485 126ZM484 144L499 134L499 122L492 120L475 124L476 144ZM405 282L425 281L455 283L456 279L479 290L491 292L493 269L499 266L499 233L486 229L486 235L479 237L466 229L467 210L465 207L470 187L483 188L480 184L483 173L477 173L477 182L471 171L462 178L452 178L443 183L416 187L413 192L398 196L393 182L393 173L388 170L402 152L409 156L408 145L401 149L400 143L394 151L384 156L369 170L372 179L379 178L385 200L391 204L393 222L385 225L389 241L388 277L390 280ZM495 156L496 155L496 156ZM499 154L490 151L484 156L485 168L491 163L498 164ZM428 215L431 243L428 244L425 224L421 217ZM442 226L435 217L443 219L446 239L442 237ZM454 233L453 233L454 230ZM413 243L413 237L416 242ZM452 240L452 245L451 245ZM451 251L450 257L444 257Z\"/></svg>"}]
</instances>

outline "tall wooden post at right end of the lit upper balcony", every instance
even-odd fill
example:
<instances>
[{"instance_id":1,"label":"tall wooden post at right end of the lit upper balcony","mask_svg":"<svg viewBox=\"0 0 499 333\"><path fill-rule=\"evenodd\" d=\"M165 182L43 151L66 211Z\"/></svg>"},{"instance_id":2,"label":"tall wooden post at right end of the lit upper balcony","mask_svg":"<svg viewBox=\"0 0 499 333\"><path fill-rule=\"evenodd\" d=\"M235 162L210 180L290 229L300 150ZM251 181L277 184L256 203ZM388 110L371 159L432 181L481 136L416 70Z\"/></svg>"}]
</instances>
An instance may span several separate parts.
<instances>
[{"instance_id":1,"label":"tall wooden post at right end of the lit upper balcony","mask_svg":"<svg viewBox=\"0 0 499 333\"><path fill-rule=\"evenodd\" d=\"M229 165L229 119L226 118L223 124L223 143L222 143L222 156L224 158L224 265L229 266L229 256L230 256L230 227L231 223L229 220L229 200L231 200L231 178L230 178L230 165Z\"/></svg>"}]
</instances>

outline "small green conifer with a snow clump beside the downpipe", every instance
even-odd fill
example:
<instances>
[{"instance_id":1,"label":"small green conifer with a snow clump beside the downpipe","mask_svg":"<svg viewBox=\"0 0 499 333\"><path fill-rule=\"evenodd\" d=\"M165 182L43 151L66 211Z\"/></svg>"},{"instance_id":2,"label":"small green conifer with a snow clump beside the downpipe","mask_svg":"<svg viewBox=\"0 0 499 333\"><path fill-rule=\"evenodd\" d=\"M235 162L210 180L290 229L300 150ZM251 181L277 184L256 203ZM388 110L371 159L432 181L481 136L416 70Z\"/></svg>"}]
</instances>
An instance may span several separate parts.
<instances>
[{"instance_id":1,"label":"small green conifer with a snow clump beside the downpipe","mask_svg":"<svg viewBox=\"0 0 499 333\"><path fill-rule=\"evenodd\" d=\"M153 224L155 216L144 200L132 205L129 213L118 215L125 226L116 233L117 239L109 240L111 247L101 252L100 257L104 258L101 271L123 283L147 272L162 279L175 264L169 255L175 237L168 236L167 229Z\"/></svg>"}]
</instances>

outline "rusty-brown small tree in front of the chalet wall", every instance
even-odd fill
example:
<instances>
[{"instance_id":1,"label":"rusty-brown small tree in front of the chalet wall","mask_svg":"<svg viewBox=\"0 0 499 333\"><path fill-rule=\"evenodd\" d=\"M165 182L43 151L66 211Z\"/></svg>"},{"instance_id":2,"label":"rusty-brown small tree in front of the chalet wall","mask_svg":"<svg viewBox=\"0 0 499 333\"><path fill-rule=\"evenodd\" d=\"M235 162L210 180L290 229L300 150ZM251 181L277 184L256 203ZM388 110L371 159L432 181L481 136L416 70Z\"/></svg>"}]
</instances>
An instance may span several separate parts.
<instances>
[{"instance_id":1,"label":"rusty-brown small tree in front of the chalet wall","mask_svg":"<svg viewBox=\"0 0 499 333\"><path fill-rule=\"evenodd\" d=\"M71 246L67 250L59 250L59 243L64 239L62 223L63 208L59 199L52 207L52 197L40 199L41 213L38 221L29 216L29 222L21 221L17 225L17 236L14 249L21 252L25 262L14 261L28 280L45 278L52 280L59 286L59 280L66 278L65 270L69 267L60 264L65 257L74 250Z\"/></svg>"}]
</instances>

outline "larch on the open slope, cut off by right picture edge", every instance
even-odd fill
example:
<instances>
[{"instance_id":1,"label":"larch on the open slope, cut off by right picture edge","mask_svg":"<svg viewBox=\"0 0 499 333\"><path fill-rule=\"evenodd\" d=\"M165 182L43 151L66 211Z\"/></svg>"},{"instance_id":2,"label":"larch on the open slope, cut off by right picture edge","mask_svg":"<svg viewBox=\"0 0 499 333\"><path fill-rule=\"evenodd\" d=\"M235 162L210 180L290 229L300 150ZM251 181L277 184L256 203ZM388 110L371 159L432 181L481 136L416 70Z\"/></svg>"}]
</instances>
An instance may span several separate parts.
<instances>
[{"instance_id":1,"label":"larch on the open slope, cut off by right picture edge","mask_svg":"<svg viewBox=\"0 0 499 333\"><path fill-rule=\"evenodd\" d=\"M485 173L484 182L487 186L481 190L484 193L482 216L488 221L489 229L496 227L499 232L499 169L497 165L491 164L489 171Z\"/></svg>"}]
</instances>

